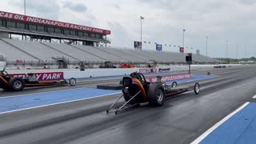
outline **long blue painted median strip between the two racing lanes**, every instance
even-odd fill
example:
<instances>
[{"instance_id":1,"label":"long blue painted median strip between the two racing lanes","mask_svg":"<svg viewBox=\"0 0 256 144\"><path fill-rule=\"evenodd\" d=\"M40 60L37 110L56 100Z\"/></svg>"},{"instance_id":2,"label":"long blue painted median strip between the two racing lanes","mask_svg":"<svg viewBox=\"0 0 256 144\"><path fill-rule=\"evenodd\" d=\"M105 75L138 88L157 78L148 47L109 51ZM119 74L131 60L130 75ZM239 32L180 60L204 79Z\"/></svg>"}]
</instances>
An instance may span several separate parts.
<instances>
[{"instance_id":1,"label":"long blue painted median strip between the two racing lanes","mask_svg":"<svg viewBox=\"0 0 256 144\"><path fill-rule=\"evenodd\" d=\"M192 78L176 82L192 82L200 79L214 78L214 75L193 75ZM171 83L171 82L166 82ZM38 94L23 94L0 98L0 114L19 110L29 110L43 106L52 106L67 102L76 102L89 98L120 94L121 90L99 90L91 88L78 88L74 90L57 90Z\"/></svg>"}]
</instances>

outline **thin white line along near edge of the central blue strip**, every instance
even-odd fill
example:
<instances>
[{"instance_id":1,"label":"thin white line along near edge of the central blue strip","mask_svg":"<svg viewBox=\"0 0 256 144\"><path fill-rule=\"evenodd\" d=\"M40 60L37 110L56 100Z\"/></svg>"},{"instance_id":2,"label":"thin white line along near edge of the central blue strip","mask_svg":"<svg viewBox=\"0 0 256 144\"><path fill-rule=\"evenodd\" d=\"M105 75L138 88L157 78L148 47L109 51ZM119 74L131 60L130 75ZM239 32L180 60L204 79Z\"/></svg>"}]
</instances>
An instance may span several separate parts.
<instances>
[{"instance_id":1,"label":"thin white line along near edge of the central blue strip","mask_svg":"<svg viewBox=\"0 0 256 144\"><path fill-rule=\"evenodd\" d=\"M114 94L121 94L121 93L122 92L118 92L118 93L114 93ZM75 99L75 100L66 101L66 102L52 103L52 104L49 104L49 105L34 106L34 107L28 107L28 108L19 109L19 110L11 110L11 111L2 112L0 114L7 114L7 113L12 113L12 112L15 112L15 111L22 111L22 110L30 110L30 109L35 109L35 108L39 108L39 107L54 106L54 105L58 105L58 104L62 104L62 103L68 103L68 102L78 102L78 101L82 101L82 100L86 100L86 99L100 98L100 97L105 97L105 96L109 96L109 95L113 95L113 94L104 94L104 95L98 95L98 96L90 97L90 98L81 98L81 99Z\"/></svg>"}]
</instances>

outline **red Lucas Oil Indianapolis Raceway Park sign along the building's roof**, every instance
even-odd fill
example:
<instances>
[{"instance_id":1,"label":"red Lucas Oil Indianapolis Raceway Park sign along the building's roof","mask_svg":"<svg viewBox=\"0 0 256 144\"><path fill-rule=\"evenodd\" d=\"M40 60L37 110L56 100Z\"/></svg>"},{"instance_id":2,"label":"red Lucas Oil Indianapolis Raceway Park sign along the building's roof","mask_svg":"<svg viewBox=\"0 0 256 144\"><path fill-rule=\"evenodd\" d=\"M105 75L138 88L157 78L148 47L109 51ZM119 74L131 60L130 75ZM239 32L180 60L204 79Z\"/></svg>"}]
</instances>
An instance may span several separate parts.
<instances>
[{"instance_id":1,"label":"red Lucas Oil Indianapolis Raceway Park sign along the building's roof","mask_svg":"<svg viewBox=\"0 0 256 144\"><path fill-rule=\"evenodd\" d=\"M33 23L38 23L42 25L48 25L48 26L59 26L67 29L74 29L74 30L84 30L87 32L91 33L98 33L98 34L110 34L110 30L102 30L94 27L89 27L89 26L80 26L80 25L75 25L67 22L58 22L58 21L52 21L49 19L44 19L44 18L35 18L35 17L30 17L27 15L22 15L22 14L13 14L13 13L8 13L4 11L0 11L0 18L8 18L11 20L18 20L22 22L33 22Z\"/></svg>"}]
</instances>

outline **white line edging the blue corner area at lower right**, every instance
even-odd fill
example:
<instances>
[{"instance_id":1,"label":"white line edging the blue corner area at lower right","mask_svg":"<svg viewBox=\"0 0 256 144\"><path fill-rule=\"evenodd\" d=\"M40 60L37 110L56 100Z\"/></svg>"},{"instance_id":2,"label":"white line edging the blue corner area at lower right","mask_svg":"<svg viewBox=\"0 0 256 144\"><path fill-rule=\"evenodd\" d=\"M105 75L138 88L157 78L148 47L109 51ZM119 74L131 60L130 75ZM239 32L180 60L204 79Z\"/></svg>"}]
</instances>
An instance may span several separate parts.
<instances>
[{"instance_id":1,"label":"white line edging the blue corner area at lower right","mask_svg":"<svg viewBox=\"0 0 256 144\"><path fill-rule=\"evenodd\" d=\"M240 106L237 110L234 110L231 114L227 115L225 118L223 118L221 121L219 121L218 123L216 123L214 126L212 126L209 130L207 130L204 134L202 134L201 136L199 136L198 138L196 138L193 142L191 142L190 144L198 144L199 142L201 142L204 138L206 138L207 135L209 135L211 132L213 132L215 129L218 128L218 126L221 126L222 123L226 122L226 120L228 120L229 118L231 118L234 114L237 114L238 111L242 110L243 108L245 108L250 102L246 102L245 104L243 104L242 106Z\"/></svg>"}]
</instances>

